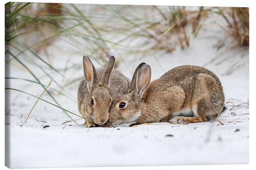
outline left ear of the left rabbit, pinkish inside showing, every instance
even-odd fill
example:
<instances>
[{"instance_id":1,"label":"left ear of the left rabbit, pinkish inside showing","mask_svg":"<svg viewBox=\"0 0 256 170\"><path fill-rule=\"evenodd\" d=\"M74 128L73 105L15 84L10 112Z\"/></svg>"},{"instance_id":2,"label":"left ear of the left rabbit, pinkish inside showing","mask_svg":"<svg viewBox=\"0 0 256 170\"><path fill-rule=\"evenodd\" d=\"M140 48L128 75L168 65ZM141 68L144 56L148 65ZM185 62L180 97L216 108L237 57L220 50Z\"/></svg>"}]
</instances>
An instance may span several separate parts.
<instances>
[{"instance_id":1,"label":"left ear of the left rabbit, pinkish inside showing","mask_svg":"<svg viewBox=\"0 0 256 170\"><path fill-rule=\"evenodd\" d=\"M87 81L88 90L92 92L94 85L98 83L98 77L93 63L87 56L83 56L83 73Z\"/></svg>"}]
</instances>

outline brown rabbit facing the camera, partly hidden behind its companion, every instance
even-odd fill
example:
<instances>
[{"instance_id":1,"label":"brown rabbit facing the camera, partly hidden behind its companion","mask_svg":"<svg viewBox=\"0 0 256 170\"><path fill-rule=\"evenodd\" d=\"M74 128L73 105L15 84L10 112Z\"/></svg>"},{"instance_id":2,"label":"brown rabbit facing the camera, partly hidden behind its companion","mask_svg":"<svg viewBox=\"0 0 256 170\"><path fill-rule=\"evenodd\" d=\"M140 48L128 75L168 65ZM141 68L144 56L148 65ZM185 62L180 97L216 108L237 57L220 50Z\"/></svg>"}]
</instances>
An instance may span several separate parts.
<instances>
[{"instance_id":1,"label":"brown rabbit facing the camera, partly hidden behind its companion","mask_svg":"<svg viewBox=\"0 0 256 170\"><path fill-rule=\"evenodd\" d=\"M130 80L113 69L114 64L115 57L111 56L105 69L96 70L91 60L83 56L84 79L78 87L78 110L87 127L103 126L109 119L113 99L130 89Z\"/></svg>"}]
</instances>

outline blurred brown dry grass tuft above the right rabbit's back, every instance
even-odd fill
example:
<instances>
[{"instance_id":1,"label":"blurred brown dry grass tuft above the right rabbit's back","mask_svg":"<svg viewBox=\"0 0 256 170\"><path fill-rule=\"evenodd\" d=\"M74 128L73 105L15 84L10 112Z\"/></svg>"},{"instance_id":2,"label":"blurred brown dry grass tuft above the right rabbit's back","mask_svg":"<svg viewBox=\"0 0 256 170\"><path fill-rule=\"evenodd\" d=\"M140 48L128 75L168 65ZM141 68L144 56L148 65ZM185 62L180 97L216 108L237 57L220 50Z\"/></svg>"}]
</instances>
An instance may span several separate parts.
<instances>
[{"instance_id":1,"label":"blurred brown dry grass tuft above the right rabbit's back","mask_svg":"<svg viewBox=\"0 0 256 170\"><path fill-rule=\"evenodd\" d=\"M177 44L179 44L181 49L189 46L190 36L187 34L188 26L192 26L191 34L196 36L201 28L200 21L206 16L203 7L200 7L199 11L186 11L185 8L174 7L167 14L159 7L153 7L162 16L163 21L152 23L152 27L148 28L153 32L148 34L148 38L156 41L155 45L151 47L151 50L160 49L173 52Z\"/></svg>"}]
</instances>

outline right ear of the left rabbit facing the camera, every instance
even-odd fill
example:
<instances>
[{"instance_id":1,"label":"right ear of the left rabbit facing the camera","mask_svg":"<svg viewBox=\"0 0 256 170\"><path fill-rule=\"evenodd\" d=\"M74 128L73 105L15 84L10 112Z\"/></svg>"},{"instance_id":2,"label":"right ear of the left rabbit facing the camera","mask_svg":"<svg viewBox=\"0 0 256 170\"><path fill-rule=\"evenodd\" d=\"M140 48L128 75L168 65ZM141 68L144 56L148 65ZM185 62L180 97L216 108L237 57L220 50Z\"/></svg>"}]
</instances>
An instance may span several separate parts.
<instances>
[{"instance_id":1,"label":"right ear of the left rabbit facing the camera","mask_svg":"<svg viewBox=\"0 0 256 170\"><path fill-rule=\"evenodd\" d=\"M110 61L108 62L108 64L106 65L106 68L103 72L103 75L102 75L102 78L100 80L100 85L107 85L108 88L110 86L110 75L111 75L111 72L114 68L114 64L115 64L115 57L114 56L111 56L110 57Z\"/></svg>"}]
</instances>

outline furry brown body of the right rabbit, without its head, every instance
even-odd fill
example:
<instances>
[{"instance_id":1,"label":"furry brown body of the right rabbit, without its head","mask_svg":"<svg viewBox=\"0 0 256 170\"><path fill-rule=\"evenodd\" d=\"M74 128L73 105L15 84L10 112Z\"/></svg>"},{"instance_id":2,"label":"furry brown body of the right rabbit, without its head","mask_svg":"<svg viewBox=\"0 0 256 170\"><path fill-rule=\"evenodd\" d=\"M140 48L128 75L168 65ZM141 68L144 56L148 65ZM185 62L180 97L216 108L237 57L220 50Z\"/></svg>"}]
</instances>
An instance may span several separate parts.
<instances>
[{"instance_id":1,"label":"furry brown body of the right rabbit, without its head","mask_svg":"<svg viewBox=\"0 0 256 170\"><path fill-rule=\"evenodd\" d=\"M142 108L145 114L140 116L139 123L166 122L185 113L194 119L183 120L179 116L173 123L205 122L216 117L224 107L224 92L219 78L210 70L194 65L167 71L150 83L145 96L146 107Z\"/></svg>"}]
</instances>

